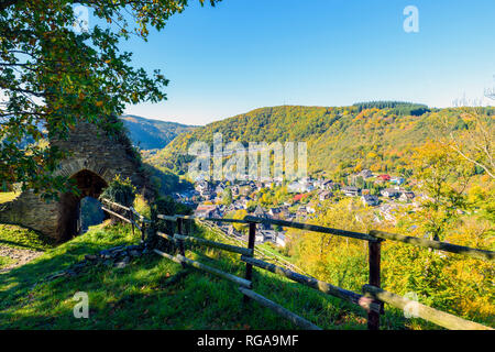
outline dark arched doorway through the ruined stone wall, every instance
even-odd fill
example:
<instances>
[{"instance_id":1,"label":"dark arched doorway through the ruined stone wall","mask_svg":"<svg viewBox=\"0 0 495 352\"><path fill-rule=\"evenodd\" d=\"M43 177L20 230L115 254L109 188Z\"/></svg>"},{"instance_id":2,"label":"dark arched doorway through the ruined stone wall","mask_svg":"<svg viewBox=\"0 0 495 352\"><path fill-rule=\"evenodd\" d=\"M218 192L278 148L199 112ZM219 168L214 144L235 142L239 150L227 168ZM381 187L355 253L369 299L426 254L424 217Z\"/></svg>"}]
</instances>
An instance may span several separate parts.
<instances>
[{"instance_id":1,"label":"dark arched doorway through the ruined stone wall","mask_svg":"<svg viewBox=\"0 0 495 352\"><path fill-rule=\"evenodd\" d=\"M102 190L108 187L102 177L89 169L81 169L70 178L76 182L80 195L75 196L72 193L66 193L61 197L58 218L61 241L67 241L81 232L84 227L84 223L81 223L81 200L85 199L82 202L82 211L85 211L87 204L94 204ZM87 209L86 211L90 210Z\"/></svg>"}]
</instances>

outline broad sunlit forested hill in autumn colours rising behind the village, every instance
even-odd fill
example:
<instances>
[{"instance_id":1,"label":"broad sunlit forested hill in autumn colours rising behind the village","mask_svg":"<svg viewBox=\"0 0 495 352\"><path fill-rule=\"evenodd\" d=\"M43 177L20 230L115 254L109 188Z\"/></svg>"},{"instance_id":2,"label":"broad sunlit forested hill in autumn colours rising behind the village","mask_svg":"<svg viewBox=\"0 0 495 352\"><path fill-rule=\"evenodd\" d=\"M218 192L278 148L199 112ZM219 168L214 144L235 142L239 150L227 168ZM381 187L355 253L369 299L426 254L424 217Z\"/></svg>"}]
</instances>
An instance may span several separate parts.
<instances>
[{"instance_id":1,"label":"broad sunlit forested hill in autumn colours rising behind the village","mask_svg":"<svg viewBox=\"0 0 495 352\"><path fill-rule=\"evenodd\" d=\"M194 141L212 145L213 134L221 132L223 143L305 141L310 173L346 173L356 166L400 172L407 153L433 136L431 127L438 116L459 113L457 109L428 109L413 103L383 106L374 102L339 108L261 108L180 134L147 162L160 168L185 172L193 160L187 155L188 146Z\"/></svg>"}]
</instances>

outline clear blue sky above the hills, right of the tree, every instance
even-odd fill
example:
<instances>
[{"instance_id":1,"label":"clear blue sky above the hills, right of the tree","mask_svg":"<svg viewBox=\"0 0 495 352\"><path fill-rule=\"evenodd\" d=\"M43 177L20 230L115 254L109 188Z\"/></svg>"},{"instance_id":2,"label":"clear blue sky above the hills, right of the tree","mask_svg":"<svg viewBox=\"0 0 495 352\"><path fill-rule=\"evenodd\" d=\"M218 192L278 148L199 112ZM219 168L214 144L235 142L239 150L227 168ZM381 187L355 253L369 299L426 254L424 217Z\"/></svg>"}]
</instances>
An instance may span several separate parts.
<instances>
[{"instance_id":1,"label":"clear blue sky above the hills, right of the tree","mask_svg":"<svg viewBox=\"0 0 495 352\"><path fill-rule=\"evenodd\" d=\"M167 101L127 113L206 124L280 106L480 99L495 86L494 0L197 1L148 42L121 45L170 79ZM419 32L406 33L407 6Z\"/></svg>"}]
</instances>

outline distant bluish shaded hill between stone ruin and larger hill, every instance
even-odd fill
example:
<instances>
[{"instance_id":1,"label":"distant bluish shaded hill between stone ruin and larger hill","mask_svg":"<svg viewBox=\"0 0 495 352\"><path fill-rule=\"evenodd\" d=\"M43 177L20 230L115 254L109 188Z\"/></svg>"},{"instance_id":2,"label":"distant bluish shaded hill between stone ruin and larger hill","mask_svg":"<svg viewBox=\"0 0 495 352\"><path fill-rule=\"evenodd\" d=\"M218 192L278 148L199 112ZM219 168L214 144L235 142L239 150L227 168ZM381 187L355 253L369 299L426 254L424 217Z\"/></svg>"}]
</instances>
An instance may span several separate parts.
<instances>
[{"instance_id":1,"label":"distant bluish shaded hill between stone ruin and larger hill","mask_svg":"<svg viewBox=\"0 0 495 352\"><path fill-rule=\"evenodd\" d=\"M131 114L120 118L129 129L131 141L142 150L163 148L178 134L193 131L196 128L176 122L144 119Z\"/></svg>"}]
</instances>

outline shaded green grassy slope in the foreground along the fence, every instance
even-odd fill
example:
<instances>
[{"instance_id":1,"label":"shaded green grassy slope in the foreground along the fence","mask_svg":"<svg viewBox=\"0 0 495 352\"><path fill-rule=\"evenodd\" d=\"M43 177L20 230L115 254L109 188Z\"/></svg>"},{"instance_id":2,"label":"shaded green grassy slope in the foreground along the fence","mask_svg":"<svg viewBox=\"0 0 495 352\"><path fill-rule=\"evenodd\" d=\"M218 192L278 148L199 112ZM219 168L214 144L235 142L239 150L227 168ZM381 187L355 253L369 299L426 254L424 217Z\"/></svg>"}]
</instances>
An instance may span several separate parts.
<instances>
[{"instance_id":1,"label":"shaded green grassy slope in the foreground along the fence","mask_svg":"<svg viewBox=\"0 0 495 352\"><path fill-rule=\"evenodd\" d=\"M217 239L202 230L200 235ZM74 277L38 284L110 246L138 243L124 226L91 228L26 265L0 274L0 329L295 329L255 301L243 304L235 285L191 271L170 284L183 268L150 254L125 268L92 266ZM187 256L243 276L239 255L193 248ZM312 290L275 274L254 271L254 290L324 329L365 329L359 307ZM75 293L89 295L89 318L76 319ZM388 312L384 328L403 328L404 319Z\"/></svg>"}]
</instances>

